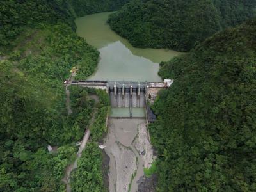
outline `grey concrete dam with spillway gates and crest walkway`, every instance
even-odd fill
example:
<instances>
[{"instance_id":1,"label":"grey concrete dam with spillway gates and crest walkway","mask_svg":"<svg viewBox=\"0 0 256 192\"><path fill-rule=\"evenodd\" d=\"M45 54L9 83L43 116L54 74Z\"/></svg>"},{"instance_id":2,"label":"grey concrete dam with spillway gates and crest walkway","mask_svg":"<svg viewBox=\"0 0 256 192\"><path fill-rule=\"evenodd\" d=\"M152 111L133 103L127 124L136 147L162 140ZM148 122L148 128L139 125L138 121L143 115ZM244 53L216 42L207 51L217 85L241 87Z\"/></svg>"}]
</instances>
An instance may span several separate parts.
<instances>
[{"instance_id":1,"label":"grey concrete dam with spillway gates and crest walkway","mask_svg":"<svg viewBox=\"0 0 256 192\"><path fill-rule=\"evenodd\" d=\"M147 100L153 103L159 90L168 88L173 80L164 82L134 82L134 81L72 81L72 85L106 90L109 94L112 108L129 108L132 118L132 108L145 108L148 116ZM148 111L148 112L147 112Z\"/></svg>"}]
</instances>

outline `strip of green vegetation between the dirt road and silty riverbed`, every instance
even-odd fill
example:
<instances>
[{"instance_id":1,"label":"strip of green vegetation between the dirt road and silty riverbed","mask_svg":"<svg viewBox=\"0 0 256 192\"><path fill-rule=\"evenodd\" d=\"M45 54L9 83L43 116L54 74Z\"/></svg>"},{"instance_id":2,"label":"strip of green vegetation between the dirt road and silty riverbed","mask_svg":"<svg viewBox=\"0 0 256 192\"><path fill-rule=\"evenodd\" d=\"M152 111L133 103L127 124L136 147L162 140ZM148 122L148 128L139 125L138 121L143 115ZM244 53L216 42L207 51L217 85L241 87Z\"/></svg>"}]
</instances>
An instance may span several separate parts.
<instances>
[{"instance_id":1,"label":"strip of green vegetation between the dirt road and silty riverbed","mask_svg":"<svg viewBox=\"0 0 256 192\"><path fill-rule=\"evenodd\" d=\"M70 91L71 96L73 95L72 103L76 102L81 106L81 113L79 113L81 120L86 116L83 113L83 108L86 107L83 104L84 99L88 98L88 95L97 95L96 98L99 99L99 101L92 99L94 102L92 108L97 108L97 114L93 125L88 127L91 132L90 140L86 144L81 158L77 161L77 169L71 175L72 191L107 191L102 179L102 151L98 147L97 141L101 140L107 131L105 123L109 108L108 94L104 90L85 89L77 86L72 86Z\"/></svg>"}]
</instances>

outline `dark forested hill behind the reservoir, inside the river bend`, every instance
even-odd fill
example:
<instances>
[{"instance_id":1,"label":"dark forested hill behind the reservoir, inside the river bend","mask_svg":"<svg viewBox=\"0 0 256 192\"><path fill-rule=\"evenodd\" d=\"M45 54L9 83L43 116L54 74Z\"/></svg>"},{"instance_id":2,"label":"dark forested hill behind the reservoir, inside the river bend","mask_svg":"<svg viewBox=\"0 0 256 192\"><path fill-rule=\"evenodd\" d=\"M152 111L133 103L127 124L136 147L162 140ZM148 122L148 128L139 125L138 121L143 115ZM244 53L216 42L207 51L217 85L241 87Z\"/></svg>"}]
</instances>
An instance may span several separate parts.
<instances>
[{"instance_id":1,"label":"dark forested hill behind the reservoir, inside the river bend","mask_svg":"<svg viewBox=\"0 0 256 192\"><path fill-rule=\"evenodd\" d=\"M136 47L189 51L216 31L253 15L254 0L133 0L108 22Z\"/></svg>"}]
</instances>

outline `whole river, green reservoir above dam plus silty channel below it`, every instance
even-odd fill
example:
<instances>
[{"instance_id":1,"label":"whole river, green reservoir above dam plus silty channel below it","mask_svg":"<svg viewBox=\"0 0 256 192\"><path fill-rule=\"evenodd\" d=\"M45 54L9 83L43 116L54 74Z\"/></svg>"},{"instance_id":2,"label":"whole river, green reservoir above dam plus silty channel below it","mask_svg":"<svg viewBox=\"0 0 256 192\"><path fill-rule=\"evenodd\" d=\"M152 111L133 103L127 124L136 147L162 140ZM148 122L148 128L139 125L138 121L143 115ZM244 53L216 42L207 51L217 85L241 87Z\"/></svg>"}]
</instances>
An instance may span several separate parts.
<instances>
[{"instance_id":1,"label":"whole river, green reservoir above dam plus silty channel below it","mask_svg":"<svg viewBox=\"0 0 256 192\"><path fill-rule=\"evenodd\" d=\"M85 38L88 44L97 47L100 52L97 70L88 79L161 81L157 75L159 62L168 61L180 52L132 47L127 40L110 29L106 23L109 14L111 12L86 15L75 20L77 35ZM129 108L112 108L111 111L111 116L129 115ZM134 108L133 111L135 116L145 116L143 108ZM145 120L109 120L105 151L110 157L110 192L138 191L138 180L143 176L145 164L148 164L145 162L149 161L138 150L143 148L138 144L141 140L138 127L144 129Z\"/></svg>"}]
</instances>

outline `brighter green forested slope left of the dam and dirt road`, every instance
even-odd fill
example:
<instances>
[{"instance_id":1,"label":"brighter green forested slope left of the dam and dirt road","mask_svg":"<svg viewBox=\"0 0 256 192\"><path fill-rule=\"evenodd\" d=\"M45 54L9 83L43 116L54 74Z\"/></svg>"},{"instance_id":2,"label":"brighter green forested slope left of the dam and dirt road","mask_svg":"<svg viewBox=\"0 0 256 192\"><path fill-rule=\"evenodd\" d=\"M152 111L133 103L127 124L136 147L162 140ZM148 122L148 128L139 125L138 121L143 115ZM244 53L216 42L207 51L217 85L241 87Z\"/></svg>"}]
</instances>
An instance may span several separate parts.
<instances>
[{"instance_id":1,"label":"brighter green forested slope left of the dam and dirt road","mask_svg":"<svg viewBox=\"0 0 256 192\"><path fill-rule=\"evenodd\" d=\"M22 39L0 63L0 188L58 191L76 149L60 147L49 154L47 143L81 140L93 106L91 100L77 101L67 116L63 79L75 65L87 70L77 75L92 74L98 52L65 24L42 25Z\"/></svg>"}]
</instances>

